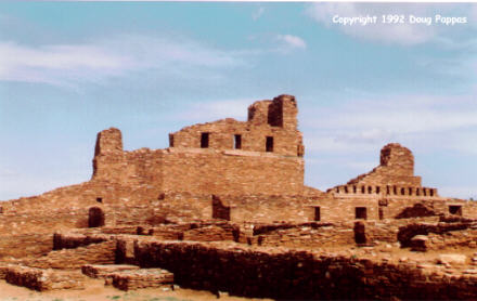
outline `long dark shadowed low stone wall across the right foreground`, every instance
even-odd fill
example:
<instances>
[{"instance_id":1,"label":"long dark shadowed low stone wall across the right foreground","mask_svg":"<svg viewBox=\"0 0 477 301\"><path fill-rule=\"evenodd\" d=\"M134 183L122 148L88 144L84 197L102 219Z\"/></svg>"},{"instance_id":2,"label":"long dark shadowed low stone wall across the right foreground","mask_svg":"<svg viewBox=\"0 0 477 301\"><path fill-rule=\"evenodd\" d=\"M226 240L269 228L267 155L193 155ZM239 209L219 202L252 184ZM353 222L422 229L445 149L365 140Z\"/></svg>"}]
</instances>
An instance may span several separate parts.
<instances>
[{"instance_id":1,"label":"long dark shadowed low stone wall across the right foreground","mask_svg":"<svg viewBox=\"0 0 477 301\"><path fill-rule=\"evenodd\" d=\"M182 287L274 299L469 299L476 275L449 275L412 262L357 259L225 243L141 240L141 266L175 274Z\"/></svg>"}]
</instances>

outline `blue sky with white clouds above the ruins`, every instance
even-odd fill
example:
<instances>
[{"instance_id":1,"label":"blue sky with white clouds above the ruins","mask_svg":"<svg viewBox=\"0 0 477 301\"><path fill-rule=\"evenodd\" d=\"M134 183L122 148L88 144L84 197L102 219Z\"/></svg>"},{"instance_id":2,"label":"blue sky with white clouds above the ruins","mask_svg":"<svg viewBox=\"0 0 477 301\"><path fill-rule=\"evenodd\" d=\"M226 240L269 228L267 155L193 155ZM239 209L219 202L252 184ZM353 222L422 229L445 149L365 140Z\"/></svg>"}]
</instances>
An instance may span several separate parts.
<instances>
[{"instance_id":1,"label":"blue sky with white clouds above the ruins","mask_svg":"<svg viewBox=\"0 0 477 301\"><path fill-rule=\"evenodd\" d=\"M340 26L336 14L465 16ZM83 182L96 132L167 147L195 122L294 94L306 184L399 142L423 184L477 198L476 4L0 2L0 199Z\"/></svg>"}]
</instances>

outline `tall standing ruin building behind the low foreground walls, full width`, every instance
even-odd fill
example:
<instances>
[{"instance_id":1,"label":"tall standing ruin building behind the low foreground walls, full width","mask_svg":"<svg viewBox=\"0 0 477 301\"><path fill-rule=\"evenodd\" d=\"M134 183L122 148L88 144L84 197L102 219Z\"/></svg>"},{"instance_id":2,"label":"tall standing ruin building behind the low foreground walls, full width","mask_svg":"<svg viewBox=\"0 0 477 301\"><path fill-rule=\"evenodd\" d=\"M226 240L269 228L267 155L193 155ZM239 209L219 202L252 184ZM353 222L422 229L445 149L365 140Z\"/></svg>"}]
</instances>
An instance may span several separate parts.
<instances>
[{"instance_id":1,"label":"tall standing ruin building behind the low foreground walls, full width","mask_svg":"<svg viewBox=\"0 0 477 301\"><path fill-rule=\"evenodd\" d=\"M124 150L118 129L101 131L90 181L3 202L0 230L22 222L30 224L28 231L51 232L164 220L336 222L423 210L476 213L470 202L423 187L412 153L395 143L382 149L378 167L345 185L326 193L305 186L297 113L292 95L258 101L248 107L247 121L183 128L169 134L165 149Z\"/></svg>"}]
</instances>

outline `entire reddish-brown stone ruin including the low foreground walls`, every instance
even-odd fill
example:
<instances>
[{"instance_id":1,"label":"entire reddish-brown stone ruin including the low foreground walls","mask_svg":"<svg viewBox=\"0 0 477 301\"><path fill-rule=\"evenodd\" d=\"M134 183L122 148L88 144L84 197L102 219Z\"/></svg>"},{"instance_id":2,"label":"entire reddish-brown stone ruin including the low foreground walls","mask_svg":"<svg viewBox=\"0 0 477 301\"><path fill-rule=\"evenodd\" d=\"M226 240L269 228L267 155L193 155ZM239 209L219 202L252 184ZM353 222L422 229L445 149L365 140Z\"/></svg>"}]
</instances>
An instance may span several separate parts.
<instances>
[{"instance_id":1,"label":"entire reddish-brown stone ruin including the low foreground walls","mask_svg":"<svg viewBox=\"0 0 477 301\"><path fill-rule=\"evenodd\" d=\"M423 186L397 143L346 184L306 186L297 113L292 95L258 101L247 121L183 128L164 149L124 150L118 129L101 131L90 181L2 202L0 279L40 291L92 277L254 298L476 298L474 202Z\"/></svg>"}]
</instances>

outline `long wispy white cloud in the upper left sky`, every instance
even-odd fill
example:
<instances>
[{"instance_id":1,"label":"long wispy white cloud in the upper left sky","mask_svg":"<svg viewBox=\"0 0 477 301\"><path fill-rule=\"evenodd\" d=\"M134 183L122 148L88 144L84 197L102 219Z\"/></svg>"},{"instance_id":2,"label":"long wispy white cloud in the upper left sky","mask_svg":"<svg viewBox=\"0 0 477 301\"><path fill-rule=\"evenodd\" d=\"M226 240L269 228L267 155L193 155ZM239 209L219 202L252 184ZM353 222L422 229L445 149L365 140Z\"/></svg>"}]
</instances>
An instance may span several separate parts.
<instances>
[{"instance_id":1,"label":"long wispy white cloud in the upper left sky","mask_svg":"<svg viewBox=\"0 0 477 301\"><path fill-rule=\"evenodd\" d=\"M121 36L85 44L23 45L0 41L0 80L75 86L132 71L204 77L207 70L246 65L240 55L192 40Z\"/></svg>"}]
</instances>

